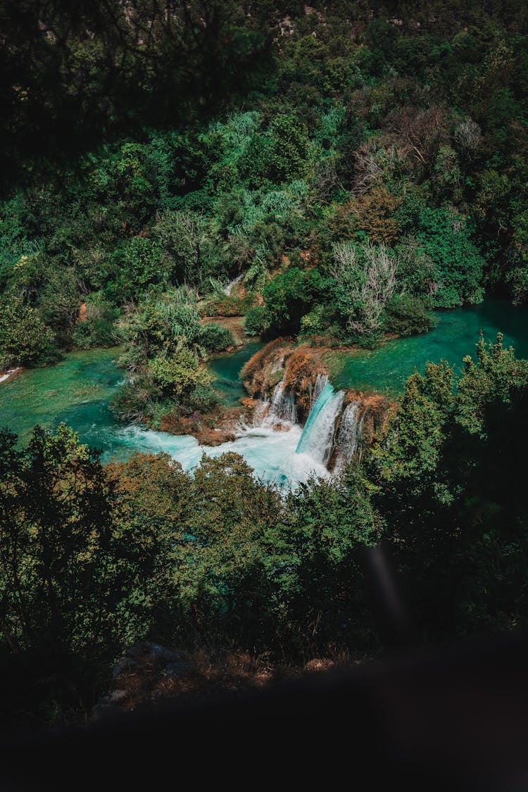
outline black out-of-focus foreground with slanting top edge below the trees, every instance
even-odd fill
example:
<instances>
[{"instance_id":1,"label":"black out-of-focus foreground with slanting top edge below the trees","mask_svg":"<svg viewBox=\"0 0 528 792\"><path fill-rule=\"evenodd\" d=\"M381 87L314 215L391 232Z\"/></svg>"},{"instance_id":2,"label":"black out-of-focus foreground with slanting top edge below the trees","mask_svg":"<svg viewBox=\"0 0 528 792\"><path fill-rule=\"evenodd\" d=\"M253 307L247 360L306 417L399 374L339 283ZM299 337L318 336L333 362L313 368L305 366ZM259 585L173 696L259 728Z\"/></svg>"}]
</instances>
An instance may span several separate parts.
<instances>
[{"instance_id":1,"label":"black out-of-focus foreground with slanting top edge below the trees","mask_svg":"<svg viewBox=\"0 0 528 792\"><path fill-rule=\"evenodd\" d=\"M2 790L298 788L523 790L528 637L394 654L266 691L18 734Z\"/></svg>"}]
</instances>

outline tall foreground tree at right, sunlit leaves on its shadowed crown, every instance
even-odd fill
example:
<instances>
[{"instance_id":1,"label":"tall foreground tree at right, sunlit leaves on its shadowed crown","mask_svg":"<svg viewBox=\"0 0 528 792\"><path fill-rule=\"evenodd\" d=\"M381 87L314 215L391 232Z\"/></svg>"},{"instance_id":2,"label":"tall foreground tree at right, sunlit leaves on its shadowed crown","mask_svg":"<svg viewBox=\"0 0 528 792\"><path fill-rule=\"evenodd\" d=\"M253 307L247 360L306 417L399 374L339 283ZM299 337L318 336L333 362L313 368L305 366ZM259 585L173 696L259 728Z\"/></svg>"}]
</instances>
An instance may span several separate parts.
<instances>
[{"instance_id":1,"label":"tall foreground tree at right, sunlit leaves on its shadowed crown","mask_svg":"<svg viewBox=\"0 0 528 792\"><path fill-rule=\"evenodd\" d=\"M526 361L500 336L490 345L481 337L461 377L429 364L409 379L371 455L374 505L426 633L526 619L528 512L518 459L527 399Z\"/></svg>"}]
</instances>

